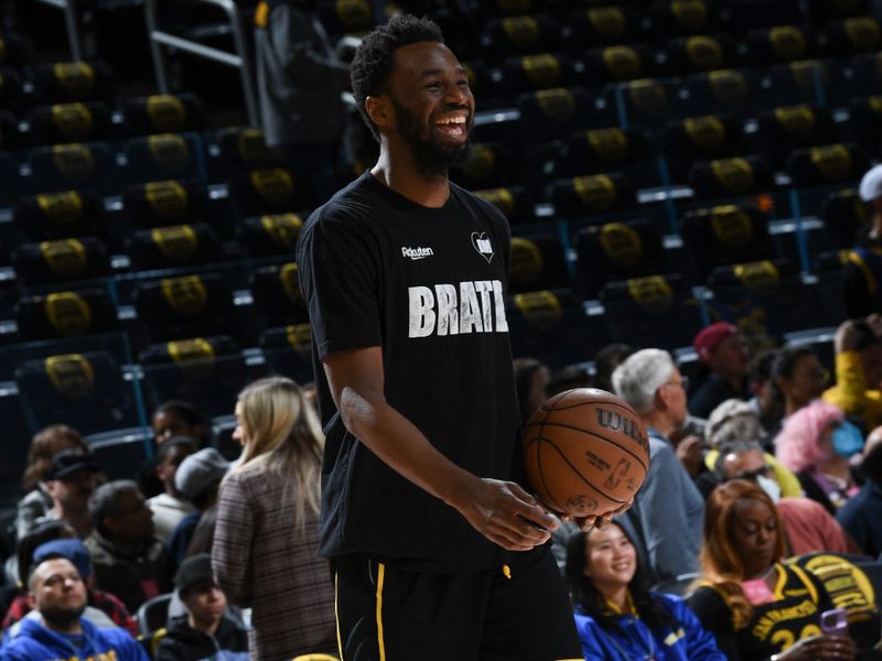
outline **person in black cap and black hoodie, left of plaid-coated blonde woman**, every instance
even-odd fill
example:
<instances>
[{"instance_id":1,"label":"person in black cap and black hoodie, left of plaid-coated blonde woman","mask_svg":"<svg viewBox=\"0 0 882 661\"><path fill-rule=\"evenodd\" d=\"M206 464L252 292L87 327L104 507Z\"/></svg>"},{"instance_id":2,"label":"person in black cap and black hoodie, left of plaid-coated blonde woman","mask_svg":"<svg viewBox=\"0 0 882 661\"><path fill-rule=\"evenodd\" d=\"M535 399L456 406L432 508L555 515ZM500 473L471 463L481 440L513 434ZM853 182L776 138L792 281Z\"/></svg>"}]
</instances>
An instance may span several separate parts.
<instances>
[{"instance_id":1,"label":"person in black cap and black hoodie, left of plaid-coated blonde woman","mask_svg":"<svg viewBox=\"0 0 882 661\"><path fill-rule=\"evenodd\" d=\"M172 618L155 661L247 661L248 631L225 617L227 598L215 582L211 555L187 557L174 584L186 614Z\"/></svg>"}]
</instances>

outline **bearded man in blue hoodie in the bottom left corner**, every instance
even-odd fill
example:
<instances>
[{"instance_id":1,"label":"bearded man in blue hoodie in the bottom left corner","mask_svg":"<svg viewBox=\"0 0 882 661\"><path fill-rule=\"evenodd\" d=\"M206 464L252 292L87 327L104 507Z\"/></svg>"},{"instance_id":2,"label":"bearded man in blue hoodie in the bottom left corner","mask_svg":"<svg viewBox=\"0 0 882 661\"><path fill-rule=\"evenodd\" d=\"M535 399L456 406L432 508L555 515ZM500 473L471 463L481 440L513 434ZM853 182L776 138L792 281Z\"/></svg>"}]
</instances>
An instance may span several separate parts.
<instances>
[{"instance_id":1,"label":"bearded man in blue hoodie in the bottom left corner","mask_svg":"<svg viewBox=\"0 0 882 661\"><path fill-rule=\"evenodd\" d=\"M144 649L127 631L99 629L83 617L86 585L69 560L52 557L35 564L28 585L36 617L22 620L18 635L0 650L2 661L148 661Z\"/></svg>"}]
</instances>

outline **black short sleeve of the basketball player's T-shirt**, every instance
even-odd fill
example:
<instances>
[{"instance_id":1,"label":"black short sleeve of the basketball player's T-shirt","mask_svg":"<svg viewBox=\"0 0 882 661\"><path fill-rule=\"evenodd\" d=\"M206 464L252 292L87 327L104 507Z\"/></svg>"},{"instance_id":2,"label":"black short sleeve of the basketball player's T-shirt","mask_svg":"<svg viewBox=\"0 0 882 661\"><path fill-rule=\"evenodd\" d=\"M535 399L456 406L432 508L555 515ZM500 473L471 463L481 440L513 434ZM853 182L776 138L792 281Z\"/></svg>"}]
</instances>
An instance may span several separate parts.
<instances>
[{"instance_id":1,"label":"black short sleeve of the basketball player's T-shirt","mask_svg":"<svg viewBox=\"0 0 882 661\"><path fill-rule=\"evenodd\" d=\"M320 359L344 349L380 346L373 254L375 246L354 220L319 218L304 230L298 250L300 286Z\"/></svg>"}]
</instances>

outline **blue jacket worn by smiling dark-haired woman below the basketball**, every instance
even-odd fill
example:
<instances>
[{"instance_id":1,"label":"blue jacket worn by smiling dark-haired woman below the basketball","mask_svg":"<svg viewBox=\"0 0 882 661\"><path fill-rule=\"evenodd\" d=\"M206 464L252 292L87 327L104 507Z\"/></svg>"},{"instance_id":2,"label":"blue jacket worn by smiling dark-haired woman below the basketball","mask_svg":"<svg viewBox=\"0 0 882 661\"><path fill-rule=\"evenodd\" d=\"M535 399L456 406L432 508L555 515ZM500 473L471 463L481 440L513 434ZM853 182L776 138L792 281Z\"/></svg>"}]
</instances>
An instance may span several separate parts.
<instances>
[{"instance_id":1,"label":"blue jacket worn by smiling dark-haired woman below the basketball","mask_svg":"<svg viewBox=\"0 0 882 661\"><path fill-rule=\"evenodd\" d=\"M590 615L576 609L576 628L587 661L725 661L717 649L713 635L706 631L698 618L675 595L653 593L677 620L673 629L653 631L632 615L621 615L615 629L601 629Z\"/></svg>"}]
</instances>

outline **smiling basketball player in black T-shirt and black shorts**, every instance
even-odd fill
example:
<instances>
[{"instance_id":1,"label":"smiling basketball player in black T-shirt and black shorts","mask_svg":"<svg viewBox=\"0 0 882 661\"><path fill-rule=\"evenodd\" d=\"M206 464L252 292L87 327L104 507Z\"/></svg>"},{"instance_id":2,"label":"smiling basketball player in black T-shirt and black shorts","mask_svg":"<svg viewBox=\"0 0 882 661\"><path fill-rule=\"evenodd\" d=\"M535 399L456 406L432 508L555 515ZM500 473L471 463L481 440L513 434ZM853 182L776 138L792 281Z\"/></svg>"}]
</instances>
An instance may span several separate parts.
<instances>
[{"instance_id":1,"label":"smiling basketball player in black T-shirt and black shorts","mask_svg":"<svg viewBox=\"0 0 882 661\"><path fill-rule=\"evenodd\" d=\"M557 524L516 483L508 225L448 181L474 115L465 71L434 23L396 17L352 79L379 160L298 247L342 657L582 659Z\"/></svg>"}]
</instances>

